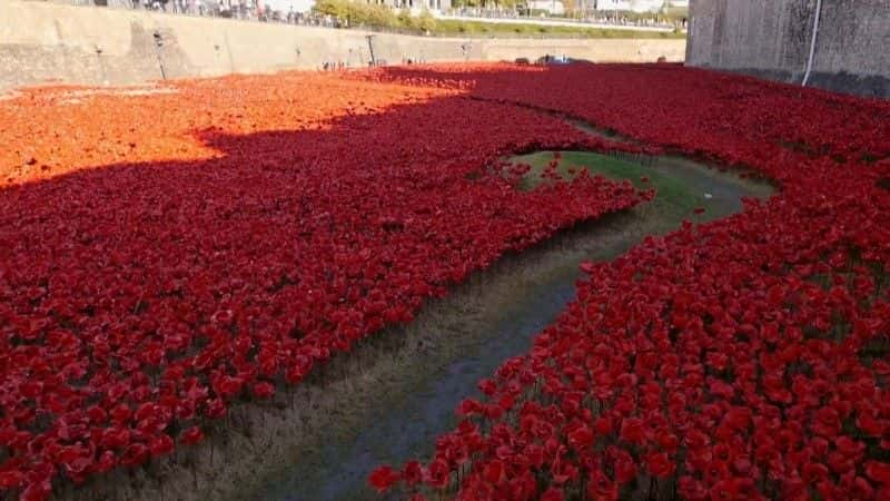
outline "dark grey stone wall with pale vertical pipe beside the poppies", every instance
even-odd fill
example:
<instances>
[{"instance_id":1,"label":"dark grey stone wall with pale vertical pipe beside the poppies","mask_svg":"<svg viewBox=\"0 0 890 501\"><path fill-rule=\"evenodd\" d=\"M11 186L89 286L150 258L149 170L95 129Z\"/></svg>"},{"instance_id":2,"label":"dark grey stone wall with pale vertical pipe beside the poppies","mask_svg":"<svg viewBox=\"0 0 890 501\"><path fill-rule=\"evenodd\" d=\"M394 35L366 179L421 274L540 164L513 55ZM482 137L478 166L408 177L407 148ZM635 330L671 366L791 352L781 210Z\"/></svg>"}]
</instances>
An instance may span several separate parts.
<instances>
[{"instance_id":1,"label":"dark grey stone wall with pale vertical pipe beside the poppies","mask_svg":"<svg viewBox=\"0 0 890 501\"><path fill-rule=\"evenodd\" d=\"M693 0L686 62L801 82L815 0ZM890 97L890 2L823 0L812 85Z\"/></svg>"}]
</instances>

